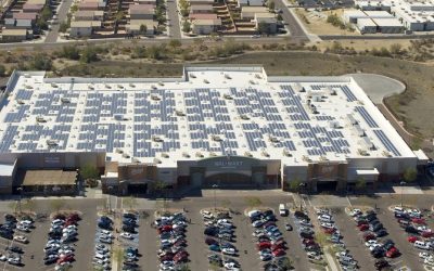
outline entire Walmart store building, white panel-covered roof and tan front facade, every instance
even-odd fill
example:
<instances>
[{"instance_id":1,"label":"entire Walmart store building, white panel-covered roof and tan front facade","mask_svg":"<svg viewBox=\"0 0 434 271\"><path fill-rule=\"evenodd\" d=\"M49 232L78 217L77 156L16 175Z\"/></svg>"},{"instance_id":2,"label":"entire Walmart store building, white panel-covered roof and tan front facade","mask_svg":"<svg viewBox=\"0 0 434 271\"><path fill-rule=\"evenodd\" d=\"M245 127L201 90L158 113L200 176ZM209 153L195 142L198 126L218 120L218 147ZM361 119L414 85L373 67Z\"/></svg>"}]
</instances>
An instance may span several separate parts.
<instances>
[{"instance_id":1,"label":"entire Walmart store building, white panel-covered roof and tan front facade","mask_svg":"<svg viewBox=\"0 0 434 271\"><path fill-rule=\"evenodd\" d=\"M256 66L136 79L15 72L1 99L1 167L14 175L90 163L104 192L156 181L346 190L360 178L397 180L418 164L350 76L273 77Z\"/></svg>"}]
</instances>

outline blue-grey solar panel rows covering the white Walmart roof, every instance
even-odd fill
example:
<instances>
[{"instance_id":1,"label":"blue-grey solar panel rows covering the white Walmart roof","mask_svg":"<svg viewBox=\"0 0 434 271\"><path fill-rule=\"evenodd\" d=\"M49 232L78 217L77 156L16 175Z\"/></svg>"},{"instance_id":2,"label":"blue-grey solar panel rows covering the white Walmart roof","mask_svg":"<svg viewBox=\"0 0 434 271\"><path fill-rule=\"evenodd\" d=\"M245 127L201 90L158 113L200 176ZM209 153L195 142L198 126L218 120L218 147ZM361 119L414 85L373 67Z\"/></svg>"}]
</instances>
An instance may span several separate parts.
<instances>
[{"instance_id":1,"label":"blue-grey solar panel rows covering the white Walmart roof","mask_svg":"<svg viewBox=\"0 0 434 271\"><path fill-rule=\"evenodd\" d=\"M269 149L305 150L311 156L350 153L342 130L330 126L339 116L306 111L303 94L291 85L267 88L17 89L13 93L16 104L4 115L8 126L1 133L0 152L123 150L132 157L155 157L177 150L217 155ZM346 85L310 88L333 88L348 102L357 101ZM355 111L369 127L379 127L365 107L355 106ZM388 151L400 155L382 131L374 132Z\"/></svg>"}]
</instances>

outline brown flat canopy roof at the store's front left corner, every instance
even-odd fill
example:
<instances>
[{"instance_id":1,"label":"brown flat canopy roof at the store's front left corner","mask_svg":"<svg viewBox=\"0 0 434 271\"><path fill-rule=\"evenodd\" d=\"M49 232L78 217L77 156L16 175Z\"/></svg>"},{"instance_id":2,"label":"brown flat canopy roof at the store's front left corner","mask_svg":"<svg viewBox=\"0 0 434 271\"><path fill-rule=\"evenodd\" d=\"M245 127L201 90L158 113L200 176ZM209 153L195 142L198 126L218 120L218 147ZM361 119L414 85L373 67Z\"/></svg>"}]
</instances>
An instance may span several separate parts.
<instances>
[{"instance_id":1,"label":"brown flat canopy roof at the store's front left corner","mask_svg":"<svg viewBox=\"0 0 434 271\"><path fill-rule=\"evenodd\" d=\"M74 185L77 171L64 170L25 170L18 172L23 186L33 185Z\"/></svg>"}]
</instances>

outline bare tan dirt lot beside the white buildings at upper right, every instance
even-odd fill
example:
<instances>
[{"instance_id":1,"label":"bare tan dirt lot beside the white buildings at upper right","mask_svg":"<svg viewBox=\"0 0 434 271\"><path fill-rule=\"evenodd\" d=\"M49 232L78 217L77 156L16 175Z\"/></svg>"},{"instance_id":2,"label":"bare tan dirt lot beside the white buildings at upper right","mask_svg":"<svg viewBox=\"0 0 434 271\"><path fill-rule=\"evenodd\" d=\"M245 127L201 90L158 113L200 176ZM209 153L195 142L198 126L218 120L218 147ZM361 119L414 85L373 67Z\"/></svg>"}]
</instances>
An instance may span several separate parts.
<instances>
[{"instance_id":1,"label":"bare tan dirt lot beside the white buildings at upper right","mask_svg":"<svg viewBox=\"0 0 434 271\"><path fill-rule=\"evenodd\" d=\"M296 9L296 14L304 23L305 27L311 33L317 35L360 35L359 31L349 31L348 29L341 29L340 27L333 26L327 23L327 17L330 14L335 14L339 17L342 17L343 10L333 10L333 11L315 11L309 10L305 11L304 9Z\"/></svg>"}]
</instances>

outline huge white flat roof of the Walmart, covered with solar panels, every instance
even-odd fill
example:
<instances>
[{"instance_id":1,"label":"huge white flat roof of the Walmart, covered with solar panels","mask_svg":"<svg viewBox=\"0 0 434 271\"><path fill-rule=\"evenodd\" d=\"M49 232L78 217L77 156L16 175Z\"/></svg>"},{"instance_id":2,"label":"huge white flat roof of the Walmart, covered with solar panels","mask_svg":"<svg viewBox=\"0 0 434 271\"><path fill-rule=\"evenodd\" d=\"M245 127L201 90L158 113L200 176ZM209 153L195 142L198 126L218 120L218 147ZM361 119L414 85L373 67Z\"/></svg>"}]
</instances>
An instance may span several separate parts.
<instances>
[{"instance_id":1,"label":"huge white flat roof of the Walmart, covered with solar panels","mask_svg":"<svg viewBox=\"0 0 434 271\"><path fill-rule=\"evenodd\" d=\"M191 67L164 79L30 73L8 100L0 154L106 152L162 166L197 153L285 165L416 157L350 77L268 77L260 67Z\"/></svg>"}]
</instances>

